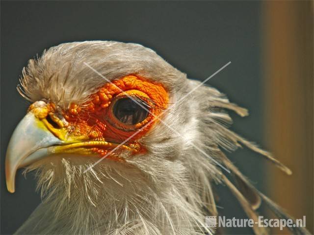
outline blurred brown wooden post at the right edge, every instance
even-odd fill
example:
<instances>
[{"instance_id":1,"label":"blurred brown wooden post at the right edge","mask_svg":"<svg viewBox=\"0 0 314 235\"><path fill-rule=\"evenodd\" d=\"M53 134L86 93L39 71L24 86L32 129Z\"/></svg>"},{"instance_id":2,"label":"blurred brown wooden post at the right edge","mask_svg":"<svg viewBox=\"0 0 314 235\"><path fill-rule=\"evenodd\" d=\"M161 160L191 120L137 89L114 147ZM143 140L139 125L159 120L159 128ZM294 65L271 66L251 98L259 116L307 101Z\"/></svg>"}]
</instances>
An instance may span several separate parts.
<instances>
[{"instance_id":1,"label":"blurred brown wooden post at the right edge","mask_svg":"<svg viewBox=\"0 0 314 235\"><path fill-rule=\"evenodd\" d=\"M269 166L268 194L313 231L313 1L262 2L268 147L293 172ZM288 231L274 230L274 234Z\"/></svg>"}]
</instances>

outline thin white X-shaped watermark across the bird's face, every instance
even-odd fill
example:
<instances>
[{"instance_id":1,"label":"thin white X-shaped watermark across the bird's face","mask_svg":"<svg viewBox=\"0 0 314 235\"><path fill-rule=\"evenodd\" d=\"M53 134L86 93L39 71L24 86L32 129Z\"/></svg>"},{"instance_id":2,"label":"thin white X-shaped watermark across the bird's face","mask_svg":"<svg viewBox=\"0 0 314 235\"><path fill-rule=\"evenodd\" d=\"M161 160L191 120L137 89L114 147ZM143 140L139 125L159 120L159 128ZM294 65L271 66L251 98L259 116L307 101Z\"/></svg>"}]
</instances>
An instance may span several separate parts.
<instances>
[{"instance_id":1,"label":"thin white X-shaped watermark across the bird's face","mask_svg":"<svg viewBox=\"0 0 314 235\"><path fill-rule=\"evenodd\" d=\"M213 73L207 80L209 80L211 77L213 77L215 74L217 74L219 71L223 70L225 67L227 67L231 62L227 63L225 66L223 66L222 68L220 68L218 71L216 71L215 73ZM148 110L145 106L143 106L141 103L139 103L136 99L134 99L131 95L126 94L120 87L118 87L117 85L115 85L113 82L111 82L109 79L107 79L103 74L101 74L99 71L95 70L93 67L91 67L89 64L87 64L86 62L83 62L83 64L85 66L87 66L89 69L91 69L92 71L94 71L95 73L97 73L99 76L101 76L102 78L104 78L108 83L113 84L116 88L118 88L118 90L122 93L124 93L127 97L129 97L131 100L133 100L136 104L138 104L140 107L142 107L144 110L146 110L148 113L150 113L152 116L154 116L155 118L157 118L162 124L164 124L166 127L168 127L169 129L171 129L174 133L176 133L179 137L181 137L181 134L173 129L171 126L169 126L167 123L165 123L163 120L161 120L160 118L158 118L155 114L153 114L150 110ZM203 82L203 84L206 82L206 80ZM191 92L193 92L195 89L193 89ZM191 93L190 92L190 93ZM182 99L181 99L182 100ZM154 119L153 119L154 120ZM129 138L128 138L129 139ZM130 138L131 139L131 138ZM129 139L129 140L130 140ZM127 141L129 141L127 140ZM127 142L124 141L123 143ZM119 144L115 149L121 147L123 144ZM228 173L230 173L230 170L228 170L226 167L224 167L222 164L220 164L219 162L217 162L215 159L213 159L212 157L210 157L206 152L204 152L203 150L201 150L199 147L197 147L195 144L191 143L192 146L194 146L194 148L196 148L198 151L200 151L201 153L203 153L206 157L208 157L211 161L213 161L215 164L219 165L221 168L223 168L224 170L226 170ZM113 151L111 151L113 152ZM110 152L109 152L110 153ZM108 153L108 154L109 154ZM98 160L95 164L93 164L91 167L89 167L88 169L94 167L94 165L100 163L103 159L105 159L105 157L107 157L106 154L104 157L102 157L100 160ZM88 169L86 169L84 172L86 172Z\"/></svg>"}]
</instances>

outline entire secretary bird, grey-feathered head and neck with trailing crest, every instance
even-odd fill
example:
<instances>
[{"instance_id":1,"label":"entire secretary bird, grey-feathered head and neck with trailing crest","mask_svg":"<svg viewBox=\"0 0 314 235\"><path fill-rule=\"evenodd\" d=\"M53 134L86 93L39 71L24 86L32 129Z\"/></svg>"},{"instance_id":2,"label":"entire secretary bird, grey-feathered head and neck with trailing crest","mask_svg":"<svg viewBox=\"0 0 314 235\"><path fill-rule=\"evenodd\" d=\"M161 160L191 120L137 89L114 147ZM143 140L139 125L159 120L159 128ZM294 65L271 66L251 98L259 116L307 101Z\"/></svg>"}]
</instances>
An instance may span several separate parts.
<instances>
[{"instance_id":1,"label":"entire secretary bird, grey-feathered head and neck with trailing crest","mask_svg":"<svg viewBox=\"0 0 314 235\"><path fill-rule=\"evenodd\" d=\"M290 173L227 128L223 109L247 111L151 49L61 44L29 61L18 91L31 105L8 145L7 188L14 192L26 167L44 198L18 234L211 234L204 216L217 215L213 183L228 186L250 218L262 200L288 216L221 151L242 144Z\"/></svg>"}]
</instances>

